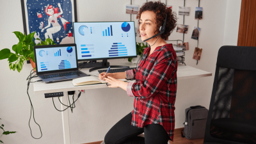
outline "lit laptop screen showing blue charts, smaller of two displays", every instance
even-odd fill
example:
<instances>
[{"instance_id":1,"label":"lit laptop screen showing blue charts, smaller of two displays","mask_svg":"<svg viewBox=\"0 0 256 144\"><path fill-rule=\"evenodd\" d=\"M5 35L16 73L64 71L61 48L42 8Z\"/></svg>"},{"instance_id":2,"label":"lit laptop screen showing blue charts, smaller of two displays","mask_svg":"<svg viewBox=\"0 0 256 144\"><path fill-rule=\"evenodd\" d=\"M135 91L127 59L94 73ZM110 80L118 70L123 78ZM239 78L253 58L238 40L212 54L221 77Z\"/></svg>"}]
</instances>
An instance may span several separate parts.
<instances>
[{"instance_id":1,"label":"lit laptop screen showing blue charts, smaller of two displays","mask_svg":"<svg viewBox=\"0 0 256 144\"><path fill-rule=\"evenodd\" d=\"M35 49L38 72L77 68L76 47L47 47Z\"/></svg>"}]
</instances>

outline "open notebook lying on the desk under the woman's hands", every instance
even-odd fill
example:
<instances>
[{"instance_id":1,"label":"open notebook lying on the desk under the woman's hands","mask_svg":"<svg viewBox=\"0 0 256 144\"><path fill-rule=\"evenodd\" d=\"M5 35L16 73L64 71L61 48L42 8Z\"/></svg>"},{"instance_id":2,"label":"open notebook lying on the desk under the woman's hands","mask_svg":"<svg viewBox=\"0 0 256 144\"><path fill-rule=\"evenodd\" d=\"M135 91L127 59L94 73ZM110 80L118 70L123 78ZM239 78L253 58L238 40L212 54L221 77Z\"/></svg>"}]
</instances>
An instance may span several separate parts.
<instances>
[{"instance_id":1,"label":"open notebook lying on the desk under the woman's hands","mask_svg":"<svg viewBox=\"0 0 256 144\"><path fill-rule=\"evenodd\" d=\"M127 79L118 79L118 80L127 81ZM80 77L78 79L72 80L72 84L74 86L83 86L83 85L88 85L88 84L99 84L99 83L107 83L107 82L103 81L99 77L95 77L95 76Z\"/></svg>"}]
</instances>

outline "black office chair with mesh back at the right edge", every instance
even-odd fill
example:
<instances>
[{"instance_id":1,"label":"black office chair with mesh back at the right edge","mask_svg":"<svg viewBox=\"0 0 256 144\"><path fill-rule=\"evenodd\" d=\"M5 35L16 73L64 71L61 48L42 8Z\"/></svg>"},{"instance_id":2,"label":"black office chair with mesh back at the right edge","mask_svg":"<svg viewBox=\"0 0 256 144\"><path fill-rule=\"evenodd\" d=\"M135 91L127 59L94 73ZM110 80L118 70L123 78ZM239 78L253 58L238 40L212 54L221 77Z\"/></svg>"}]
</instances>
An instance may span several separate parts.
<instances>
[{"instance_id":1,"label":"black office chair with mesh back at the right edge","mask_svg":"<svg viewBox=\"0 0 256 144\"><path fill-rule=\"evenodd\" d=\"M256 143L256 47L218 52L204 144Z\"/></svg>"}]
</instances>

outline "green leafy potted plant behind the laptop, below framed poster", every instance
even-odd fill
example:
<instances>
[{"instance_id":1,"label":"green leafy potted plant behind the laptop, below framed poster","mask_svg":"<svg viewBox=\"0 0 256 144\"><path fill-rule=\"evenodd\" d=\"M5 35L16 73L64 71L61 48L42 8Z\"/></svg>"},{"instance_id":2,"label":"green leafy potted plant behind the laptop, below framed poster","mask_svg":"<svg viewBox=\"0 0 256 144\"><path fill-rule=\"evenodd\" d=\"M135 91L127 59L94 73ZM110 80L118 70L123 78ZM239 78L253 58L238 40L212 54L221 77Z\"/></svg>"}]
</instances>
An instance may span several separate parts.
<instances>
[{"instance_id":1,"label":"green leafy potted plant behind the laptop, below framed poster","mask_svg":"<svg viewBox=\"0 0 256 144\"><path fill-rule=\"evenodd\" d=\"M35 70L35 57L33 48L33 46L36 45L35 42L33 42L35 32L30 33L29 35L23 35L19 31L14 31L13 33L15 33L17 38L19 38L19 43L12 46L12 50L15 53L11 52L8 48L2 49L0 51L0 60L8 58L10 70L14 71L17 69L18 72L22 70L25 61L30 61L33 69ZM36 38L36 40L40 39ZM51 38L47 38L45 42L42 40L40 41L40 44L37 45L54 44Z\"/></svg>"}]
</instances>

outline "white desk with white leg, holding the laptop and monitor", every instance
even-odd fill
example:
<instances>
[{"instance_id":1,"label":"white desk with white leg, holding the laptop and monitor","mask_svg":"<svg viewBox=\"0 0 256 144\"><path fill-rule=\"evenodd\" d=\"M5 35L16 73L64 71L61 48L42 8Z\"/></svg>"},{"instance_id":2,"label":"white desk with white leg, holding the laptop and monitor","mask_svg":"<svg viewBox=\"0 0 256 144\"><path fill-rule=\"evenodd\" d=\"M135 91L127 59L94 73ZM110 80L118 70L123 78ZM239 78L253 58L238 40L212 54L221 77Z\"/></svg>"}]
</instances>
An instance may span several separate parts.
<instances>
[{"instance_id":1,"label":"white desk with white leg, holding the laptop and monitor","mask_svg":"<svg viewBox=\"0 0 256 144\"><path fill-rule=\"evenodd\" d=\"M132 64L130 62L125 63L112 63L111 65L127 65L129 67L136 67L136 64ZM89 72L90 68L83 68L83 71L86 74L98 76L99 72L94 70L93 72ZM177 79L189 79L189 78L196 78L196 77L207 77L212 76L211 72L206 72L204 70L200 70L198 68L189 67L185 65L178 65L177 70ZM36 81L38 79L35 79ZM67 101L67 92L74 91L74 90L88 90L88 89L95 89L95 88L107 88L106 84L93 84L93 85L86 85L86 86L73 86L71 81L61 81L58 83L33 83L34 84L34 93L35 94L42 94L42 93L53 93L53 92L63 92L64 96L61 97L61 102L63 104L68 105ZM61 104L61 109L65 109ZM62 113L62 122L63 122L63 134L64 134L64 143L70 144L70 133L69 133L69 123L68 123L68 111L63 111Z\"/></svg>"}]
</instances>

